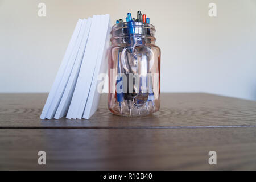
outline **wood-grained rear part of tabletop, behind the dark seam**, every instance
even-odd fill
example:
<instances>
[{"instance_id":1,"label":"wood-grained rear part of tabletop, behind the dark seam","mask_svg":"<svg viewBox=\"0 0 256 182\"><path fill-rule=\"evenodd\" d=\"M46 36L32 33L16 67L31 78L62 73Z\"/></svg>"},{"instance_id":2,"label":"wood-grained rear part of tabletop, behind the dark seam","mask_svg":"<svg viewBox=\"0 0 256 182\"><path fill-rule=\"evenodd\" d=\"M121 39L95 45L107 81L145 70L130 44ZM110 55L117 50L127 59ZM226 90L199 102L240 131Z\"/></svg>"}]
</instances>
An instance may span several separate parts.
<instances>
[{"instance_id":1,"label":"wood-grained rear part of tabletop, behind the dark seam","mask_svg":"<svg viewBox=\"0 0 256 182\"><path fill-rule=\"evenodd\" d=\"M106 95L92 118L41 120L47 94L0 94L0 128L154 128L256 126L256 102L205 93L163 93L160 111L146 117L118 117Z\"/></svg>"}]
</instances>

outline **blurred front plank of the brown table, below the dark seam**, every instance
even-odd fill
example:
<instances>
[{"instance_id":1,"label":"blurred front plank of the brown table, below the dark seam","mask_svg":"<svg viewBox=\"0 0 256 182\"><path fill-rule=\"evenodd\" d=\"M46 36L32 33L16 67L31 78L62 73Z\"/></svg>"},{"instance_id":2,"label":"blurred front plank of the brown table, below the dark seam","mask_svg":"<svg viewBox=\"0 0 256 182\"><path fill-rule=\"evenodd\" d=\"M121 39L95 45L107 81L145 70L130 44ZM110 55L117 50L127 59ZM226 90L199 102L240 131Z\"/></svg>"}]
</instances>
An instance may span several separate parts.
<instances>
[{"instance_id":1,"label":"blurred front plank of the brown table, below the dark seam","mask_svg":"<svg viewBox=\"0 0 256 182\"><path fill-rule=\"evenodd\" d=\"M0 169L256 169L256 128L1 129ZM38 165L38 151L46 165ZM209 151L217 165L209 165Z\"/></svg>"}]
</instances>

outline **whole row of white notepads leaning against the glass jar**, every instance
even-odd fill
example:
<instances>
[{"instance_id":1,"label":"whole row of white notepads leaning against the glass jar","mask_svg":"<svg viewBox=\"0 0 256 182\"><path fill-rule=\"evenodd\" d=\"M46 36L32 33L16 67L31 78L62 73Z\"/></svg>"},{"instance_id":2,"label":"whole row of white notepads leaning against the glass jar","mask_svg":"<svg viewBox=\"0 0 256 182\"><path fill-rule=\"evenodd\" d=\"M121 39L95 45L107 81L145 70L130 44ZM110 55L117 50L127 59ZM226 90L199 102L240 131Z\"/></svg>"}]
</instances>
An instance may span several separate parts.
<instances>
[{"instance_id":1,"label":"whole row of white notepads leaning against the glass jar","mask_svg":"<svg viewBox=\"0 0 256 182\"><path fill-rule=\"evenodd\" d=\"M110 28L109 14L79 19L41 119L89 119L97 110L97 76L106 73Z\"/></svg>"}]
</instances>

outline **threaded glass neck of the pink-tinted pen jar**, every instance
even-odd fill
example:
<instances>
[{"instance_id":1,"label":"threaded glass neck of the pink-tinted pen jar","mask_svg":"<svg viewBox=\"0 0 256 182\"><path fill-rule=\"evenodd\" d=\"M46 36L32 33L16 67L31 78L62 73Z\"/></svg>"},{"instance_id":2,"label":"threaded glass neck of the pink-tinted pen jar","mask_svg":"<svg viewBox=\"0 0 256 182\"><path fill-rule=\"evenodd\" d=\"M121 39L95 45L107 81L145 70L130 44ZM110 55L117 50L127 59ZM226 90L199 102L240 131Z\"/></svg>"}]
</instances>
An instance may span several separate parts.
<instances>
[{"instance_id":1,"label":"threaded glass neck of the pink-tinted pen jar","mask_svg":"<svg viewBox=\"0 0 256 182\"><path fill-rule=\"evenodd\" d=\"M115 44L155 44L155 27L149 23L123 22L112 27L112 45ZM129 26L130 25L130 26ZM133 26L133 34L131 34Z\"/></svg>"}]
</instances>

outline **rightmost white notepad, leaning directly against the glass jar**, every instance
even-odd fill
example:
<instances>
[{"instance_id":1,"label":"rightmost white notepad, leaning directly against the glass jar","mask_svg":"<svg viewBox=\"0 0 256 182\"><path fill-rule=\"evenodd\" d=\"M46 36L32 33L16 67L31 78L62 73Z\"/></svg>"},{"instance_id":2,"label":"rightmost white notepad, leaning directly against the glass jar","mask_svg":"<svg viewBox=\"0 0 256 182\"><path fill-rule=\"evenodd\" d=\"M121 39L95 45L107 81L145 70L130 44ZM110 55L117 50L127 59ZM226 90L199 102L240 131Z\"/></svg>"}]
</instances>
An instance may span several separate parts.
<instances>
[{"instance_id":1,"label":"rightmost white notepad, leaning directly against the glass jar","mask_svg":"<svg viewBox=\"0 0 256 182\"><path fill-rule=\"evenodd\" d=\"M107 58L107 49L109 46L109 37L110 37L110 30L111 30L111 22L109 15L105 17L105 24L104 24L104 34L101 38L100 50L98 52L98 57L96 61L96 67L94 69L92 85L90 86L89 96L86 101L84 115L82 118L89 119L95 111L98 109L98 103L100 101L100 93L98 92L98 84L101 82L98 80L98 75L100 73L106 73L108 68L108 60Z\"/></svg>"}]
</instances>

